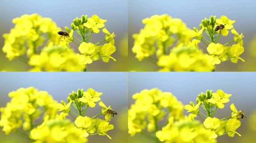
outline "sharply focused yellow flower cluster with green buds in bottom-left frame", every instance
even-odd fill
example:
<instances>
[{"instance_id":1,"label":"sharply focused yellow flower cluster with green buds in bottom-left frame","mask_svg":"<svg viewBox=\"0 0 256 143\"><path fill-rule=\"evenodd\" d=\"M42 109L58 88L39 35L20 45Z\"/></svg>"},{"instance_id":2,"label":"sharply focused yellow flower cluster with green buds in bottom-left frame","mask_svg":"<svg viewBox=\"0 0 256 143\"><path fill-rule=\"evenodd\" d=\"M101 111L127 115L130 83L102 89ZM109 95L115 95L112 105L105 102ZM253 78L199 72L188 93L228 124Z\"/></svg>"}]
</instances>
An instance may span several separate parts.
<instances>
[{"instance_id":1,"label":"sharply focused yellow flower cluster with green buds in bottom-left frame","mask_svg":"<svg viewBox=\"0 0 256 143\"><path fill-rule=\"evenodd\" d=\"M95 134L100 136L107 136L109 139L111 137L107 134L107 131L112 130L114 125L109 124L111 114L107 113L108 108L104 105L103 101L100 101L100 96L102 93L95 91L92 88L89 88L87 91L83 89L78 89L77 92L72 92L67 98L67 104L65 101L61 101L61 104L58 104L57 107L59 111L69 114L74 118L74 124L81 131L82 137L88 137ZM99 102L99 105L102 107L102 110L99 114L94 117L86 116L86 112L89 108L94 108L96 102ZM73 111L71 107L76 110ZM98 117L99 115L105 115L105 120L101 120Z\"/></svg>"}]
</instances>

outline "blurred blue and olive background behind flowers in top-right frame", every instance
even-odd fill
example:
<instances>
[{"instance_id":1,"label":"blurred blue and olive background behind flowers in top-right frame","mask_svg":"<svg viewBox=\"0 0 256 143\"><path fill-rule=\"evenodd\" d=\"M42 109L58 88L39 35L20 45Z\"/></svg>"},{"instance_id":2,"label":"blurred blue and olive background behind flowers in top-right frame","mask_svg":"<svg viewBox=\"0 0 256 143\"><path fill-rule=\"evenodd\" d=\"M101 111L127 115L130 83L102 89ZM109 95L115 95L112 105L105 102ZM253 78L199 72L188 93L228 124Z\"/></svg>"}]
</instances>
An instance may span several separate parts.
<instances>
[{"instance_id":1,"label":"blurred blue and olive background behind flowers in top-right frame","mask_svg":"<svg viewBox=\"0 0 256 143\"><path fill-rule=\"evenodd\" d=\"M256 18L255 0L224 0L211 1L205 0L129 0L128 1L128 54L129 71L156 71L160 68L149 60L144 59L139 62L132 53L134 39L132 34L138 33L144 25L141 20L152 15L162 15L167 13L173 18L180 18L189 28L197 27L201 20L216 15L220 18L226 15L231 20L236 20L234 28L237 32L244 34L244 53L241 57L245 63L238 61L233 64L230 61L216 65L215 71L256 71ZM234 35L221 36L219 42L225 44L233 39ZM254 41L254 42L253 42ZM206 53L206 46L199 45Z\"/></svg>"}]
</instances>

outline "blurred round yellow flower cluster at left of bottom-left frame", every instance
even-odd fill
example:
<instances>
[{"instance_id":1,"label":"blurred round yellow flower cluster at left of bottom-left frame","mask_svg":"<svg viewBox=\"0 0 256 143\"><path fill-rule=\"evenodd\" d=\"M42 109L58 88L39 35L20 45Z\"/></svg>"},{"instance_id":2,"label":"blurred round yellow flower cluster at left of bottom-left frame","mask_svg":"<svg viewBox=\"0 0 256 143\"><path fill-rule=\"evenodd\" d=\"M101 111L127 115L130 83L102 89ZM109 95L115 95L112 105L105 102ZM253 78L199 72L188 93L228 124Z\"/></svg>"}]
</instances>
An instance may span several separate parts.
<instances>
[{"instance_id":1,"label":"blurred round yellow flower cluster at left of bottom-left frame","mask_svg":"<svg viewBox=\"0 0 256 143\"><path fill-rule=\"evenodd\" d=\"M28 134L27 131L37 124L35 120L41 115L53 118L57 114L57 101L46 91L38 91L33 87L20 88L10 92L9 97L12 99L7 102L6 107L0 108L0 126L6 134ZM25 133L20 133L21 130Z\"/></svg>"}]
</instances>

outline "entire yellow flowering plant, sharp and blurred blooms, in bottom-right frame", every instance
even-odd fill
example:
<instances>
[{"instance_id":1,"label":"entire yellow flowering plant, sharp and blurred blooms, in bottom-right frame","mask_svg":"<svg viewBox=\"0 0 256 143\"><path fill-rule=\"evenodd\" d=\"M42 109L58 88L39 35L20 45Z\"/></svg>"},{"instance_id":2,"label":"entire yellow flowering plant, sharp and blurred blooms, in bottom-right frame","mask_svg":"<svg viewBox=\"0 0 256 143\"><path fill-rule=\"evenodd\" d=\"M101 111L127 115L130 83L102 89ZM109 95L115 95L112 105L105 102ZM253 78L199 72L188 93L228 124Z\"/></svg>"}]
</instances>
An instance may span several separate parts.
<instances>
[{"instance_id":1,"label":"entire yellow flowering plant, sharp and blurred blooms, in bottom-right frame","mask_svg":"<svg viewBox=\"0 0 256 143\"><path fill-rule=\"evenodd\" d=\"M230 106L230 116L222 119L214 117L218 108L224 108L230 96L222 90L216 93L207 90L198 95L196 105L191 102L183 107L182 102L170 92L156 88L142 90L132 96L135 103L128 110L128 133L131 136L141 134L156 143L216 143L216 138L225 134L241 136L236 130L241 125L242 111L237 111L234 104ZM183 108L191 114L184 115ZM203 124L195 119L197 115L204 120ZM228 118L231 119L226 120Z\"/></svg>"}]
</instances>

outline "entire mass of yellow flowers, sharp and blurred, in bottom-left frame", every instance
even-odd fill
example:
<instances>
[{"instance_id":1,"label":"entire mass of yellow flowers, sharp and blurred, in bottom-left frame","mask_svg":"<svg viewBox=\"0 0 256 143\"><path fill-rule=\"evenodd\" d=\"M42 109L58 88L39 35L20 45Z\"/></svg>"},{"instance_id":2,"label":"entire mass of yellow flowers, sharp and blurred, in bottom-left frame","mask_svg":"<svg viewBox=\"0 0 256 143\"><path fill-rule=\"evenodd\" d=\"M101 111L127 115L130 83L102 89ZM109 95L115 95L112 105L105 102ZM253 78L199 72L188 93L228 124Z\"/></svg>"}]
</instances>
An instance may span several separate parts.
<instances>
[{"instance_id":1,"label":"entire mass of yellow flowers, sharp and blurred, in bottom-left frame","mask_svg":"<svg viewBox=\"0 0 256 143\"><path fill-rule=\"evenodd\" d=\"M15 132L34 143L85 143L88 136L96 134L111 139L107 131L114 126L109 124L111 113L107 110L112 108L100 101L101 94L91 88L85 92L78 89L69 94L66 104L64 101L58 103L46 91L20 88L10 92L12 99L6 107L0 108L0 127L6 134ZM103 107L101 112L94 117L86 116L88 108L95 107L98 101ZM58 111L62 112L58 114ZM74 122L67 119L68 115ZM99 115L105 115L105 120L96 118Z\"/></svg>"}]
</instances>

